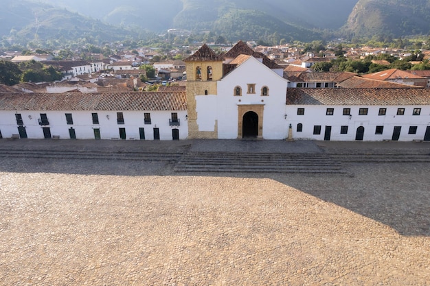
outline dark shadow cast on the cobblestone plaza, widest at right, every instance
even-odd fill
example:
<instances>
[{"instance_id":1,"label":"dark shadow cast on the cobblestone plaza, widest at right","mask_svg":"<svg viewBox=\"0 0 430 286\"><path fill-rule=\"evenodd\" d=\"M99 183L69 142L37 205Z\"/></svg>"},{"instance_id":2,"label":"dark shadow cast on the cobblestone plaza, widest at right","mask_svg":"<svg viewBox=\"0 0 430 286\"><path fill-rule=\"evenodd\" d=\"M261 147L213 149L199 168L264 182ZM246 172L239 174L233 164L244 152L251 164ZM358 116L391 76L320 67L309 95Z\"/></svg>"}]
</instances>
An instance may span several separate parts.
<instances>
[{"instance_id":1,"label":"dark shadow cast on the cobblestone plaza, widest at right","mask_svg":"<svg viewBox=\"0 0 430 286\"><path fill-rule=\"evenodd\" d=\"M186 147L186 146L181 146ZM168 161L1 158L0 172L100 176L212 176L269 178L394 228L430 236L429 163L350 163L354 176L253 173L177 173ZM104 180L105 178L101 178ZM107 179L107 178L106 178ZM0 174L1 180L1 174ZM288 195L288 192L283 195ZM335 226L333 226L335 227Z\"/></svg>"}]
</instances>

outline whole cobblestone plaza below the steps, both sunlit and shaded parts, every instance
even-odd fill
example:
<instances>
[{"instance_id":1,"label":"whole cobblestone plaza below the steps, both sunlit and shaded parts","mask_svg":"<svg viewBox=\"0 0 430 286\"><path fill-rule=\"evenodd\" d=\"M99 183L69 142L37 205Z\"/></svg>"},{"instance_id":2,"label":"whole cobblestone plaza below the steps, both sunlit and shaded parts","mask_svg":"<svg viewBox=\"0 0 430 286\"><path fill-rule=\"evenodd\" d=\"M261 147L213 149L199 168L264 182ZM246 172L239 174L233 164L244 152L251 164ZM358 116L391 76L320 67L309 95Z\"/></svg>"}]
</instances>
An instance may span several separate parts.
<instances>
[{"instance_id":1,"label":"whole cobblestone plaza below the steps, both sunlit and shaded parts","mask_svg":"<svg viewBox=\"0 0 430 286\"><path fill-rule=\"evenodd\" d=\"M429 167L1 158L0 285L430 285Z\"/></svg>"}]
</instances>

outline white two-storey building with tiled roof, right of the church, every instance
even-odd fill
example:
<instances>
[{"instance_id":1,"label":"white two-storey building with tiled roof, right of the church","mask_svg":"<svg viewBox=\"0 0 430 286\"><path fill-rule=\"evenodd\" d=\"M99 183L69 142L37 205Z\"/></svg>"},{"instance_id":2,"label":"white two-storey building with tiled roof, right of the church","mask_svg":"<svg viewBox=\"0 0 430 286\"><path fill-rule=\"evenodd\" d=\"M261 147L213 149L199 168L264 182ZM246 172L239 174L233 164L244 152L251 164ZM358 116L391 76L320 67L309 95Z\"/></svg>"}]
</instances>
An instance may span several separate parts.
<instances>
[{"instance_id":1,"label":"white two-storey building with tiled roof, right of the church","mask_svg":"<svg viewBox=\"0 0 430 286\"><path fill-rule=\"evenodd\" d=\"M288 88L295 139L430 141L430 91L424 88Z\"/></svg>"}]
</instances>

